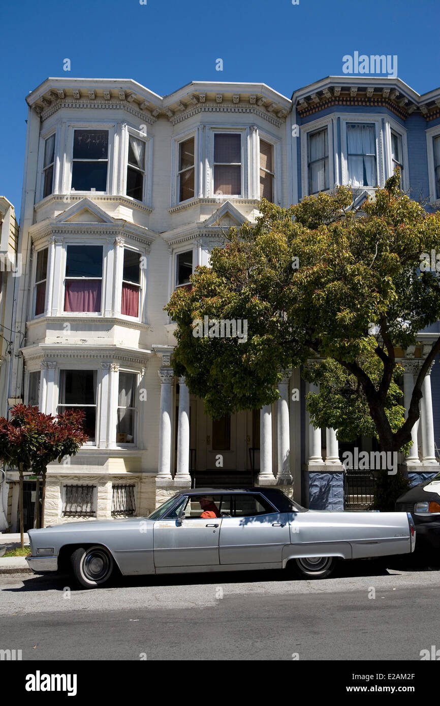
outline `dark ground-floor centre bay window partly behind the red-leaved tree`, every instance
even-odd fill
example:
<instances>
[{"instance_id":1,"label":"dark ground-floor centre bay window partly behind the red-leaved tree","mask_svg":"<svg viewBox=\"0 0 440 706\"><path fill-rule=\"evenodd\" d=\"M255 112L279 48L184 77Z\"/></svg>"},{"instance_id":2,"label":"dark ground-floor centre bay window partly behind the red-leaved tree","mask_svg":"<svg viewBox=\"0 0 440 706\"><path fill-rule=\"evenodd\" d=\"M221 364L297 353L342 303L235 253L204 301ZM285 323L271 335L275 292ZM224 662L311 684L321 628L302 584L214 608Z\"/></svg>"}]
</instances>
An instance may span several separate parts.
<instances>
[{"instance_id":1,"label":"dark ground-floor centre bay window partly behind the red-leaved tree","mask_svg":"<svg viewBox=\"0 0 440 706\"><path fill-rule=\"evenodd\" d=\"M96 370L59 371L58 414L67 409L82 409L83 429L90 443L95 443L96 436L96 390Z\"/></svg>"}]
</instances>

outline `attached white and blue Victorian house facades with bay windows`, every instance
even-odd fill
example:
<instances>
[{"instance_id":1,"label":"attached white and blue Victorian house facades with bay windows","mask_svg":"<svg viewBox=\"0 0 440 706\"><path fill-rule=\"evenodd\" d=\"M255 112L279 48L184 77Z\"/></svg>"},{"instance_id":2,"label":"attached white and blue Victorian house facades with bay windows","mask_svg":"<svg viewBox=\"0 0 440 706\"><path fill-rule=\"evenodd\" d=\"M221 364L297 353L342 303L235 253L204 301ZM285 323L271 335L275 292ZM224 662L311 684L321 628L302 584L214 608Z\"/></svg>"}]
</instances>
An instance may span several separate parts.
<instances>
[{"instance_id":1,"label":"attached white and blue Victorian house facades with bay windows","mask_svg":"<svg viewBox=\"0 0 440 706\"><path fill-rule=\"evenodd\" d=\"M275 405L213 421L174 377L163 306L227 227L255 222L261 197L288 206L350 184L362 202L399 164L404 189L438 208L440 91L338 77L291 99L206 82L161 97L133 80L50 78L26 100L8 396L50 414L81 408L89 436L49 467L45 522L146 515L191 485L278 484L307 506L342 509L341 449L333 429L309 424L300 371L285 371ZM434 326L398 352L407 397L438 335ZM415 481L438 467L436 375L406 459ZM8 481L15 527L16 473Z\"/></svg>"}]
</instances>

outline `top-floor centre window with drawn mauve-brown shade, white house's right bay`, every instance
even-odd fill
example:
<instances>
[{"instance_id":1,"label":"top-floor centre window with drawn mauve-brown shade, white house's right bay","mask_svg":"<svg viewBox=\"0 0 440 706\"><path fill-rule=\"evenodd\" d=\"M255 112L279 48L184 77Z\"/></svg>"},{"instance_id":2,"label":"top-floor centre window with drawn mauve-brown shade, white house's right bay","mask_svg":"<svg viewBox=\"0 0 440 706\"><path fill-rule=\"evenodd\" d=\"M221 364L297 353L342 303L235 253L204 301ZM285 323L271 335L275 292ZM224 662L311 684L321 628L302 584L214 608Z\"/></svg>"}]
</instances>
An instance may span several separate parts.
<instances>
[{"instance_id":1,"label":"top-floor centre window with drawn mauve-brown shade, white house's right bay","mask_svg":"<svg viewBox=\"0 0 440 706\"><path fill-rule=\"evenodd\" d=\"M242 196L242 136L216 133L214 136L214 193Z\"/></svg>"}]
</instances>

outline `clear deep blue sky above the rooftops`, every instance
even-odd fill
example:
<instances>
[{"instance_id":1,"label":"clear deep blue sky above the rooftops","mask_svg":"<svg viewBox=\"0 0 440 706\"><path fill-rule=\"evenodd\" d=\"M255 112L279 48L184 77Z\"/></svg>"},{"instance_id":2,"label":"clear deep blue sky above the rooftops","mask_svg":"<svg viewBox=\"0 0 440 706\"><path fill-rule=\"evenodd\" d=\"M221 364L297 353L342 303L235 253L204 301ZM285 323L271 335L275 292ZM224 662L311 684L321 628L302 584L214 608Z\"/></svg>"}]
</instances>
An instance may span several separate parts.
<instances>
[{"instance_id":1,"label":"clear deep blue sky above the rooftops","mask_svg":"<svg viewBox=\"0 0 440 706\"><path fill-rule=\"evenodd\" d=\"M256 81L290 97L342 75L343 55L397 54L417 92L440 85L439 0L2 0L0 194L20 211L25 95L48 76ZM63 71L63 59L71 71ZM215 59L223 59L223 71Z\"/></svg>"}]
</instances>

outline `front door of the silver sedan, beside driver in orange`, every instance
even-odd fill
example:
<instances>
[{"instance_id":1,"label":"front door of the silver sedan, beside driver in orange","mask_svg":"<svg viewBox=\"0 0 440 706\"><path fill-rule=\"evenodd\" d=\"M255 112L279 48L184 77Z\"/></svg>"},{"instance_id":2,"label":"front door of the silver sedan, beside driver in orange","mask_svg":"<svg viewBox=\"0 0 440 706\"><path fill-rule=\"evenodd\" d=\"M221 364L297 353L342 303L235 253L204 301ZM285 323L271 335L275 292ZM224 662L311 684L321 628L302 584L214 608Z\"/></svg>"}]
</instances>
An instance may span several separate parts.
<instances>
[{"instance_id":1,"label":"front door of the silver sedan, beside driver in orange","mask_svg":"<svg viewBox=\"0 0 440 706\"><path fill-rule=\"evenodd\" d=\"M153 542L156 568L218 566L218 540L222 519L200 517L202 512L197 498L190 496L182 523L177 520L177 516L155 522Z\"/></svg>"}]
</instances>

